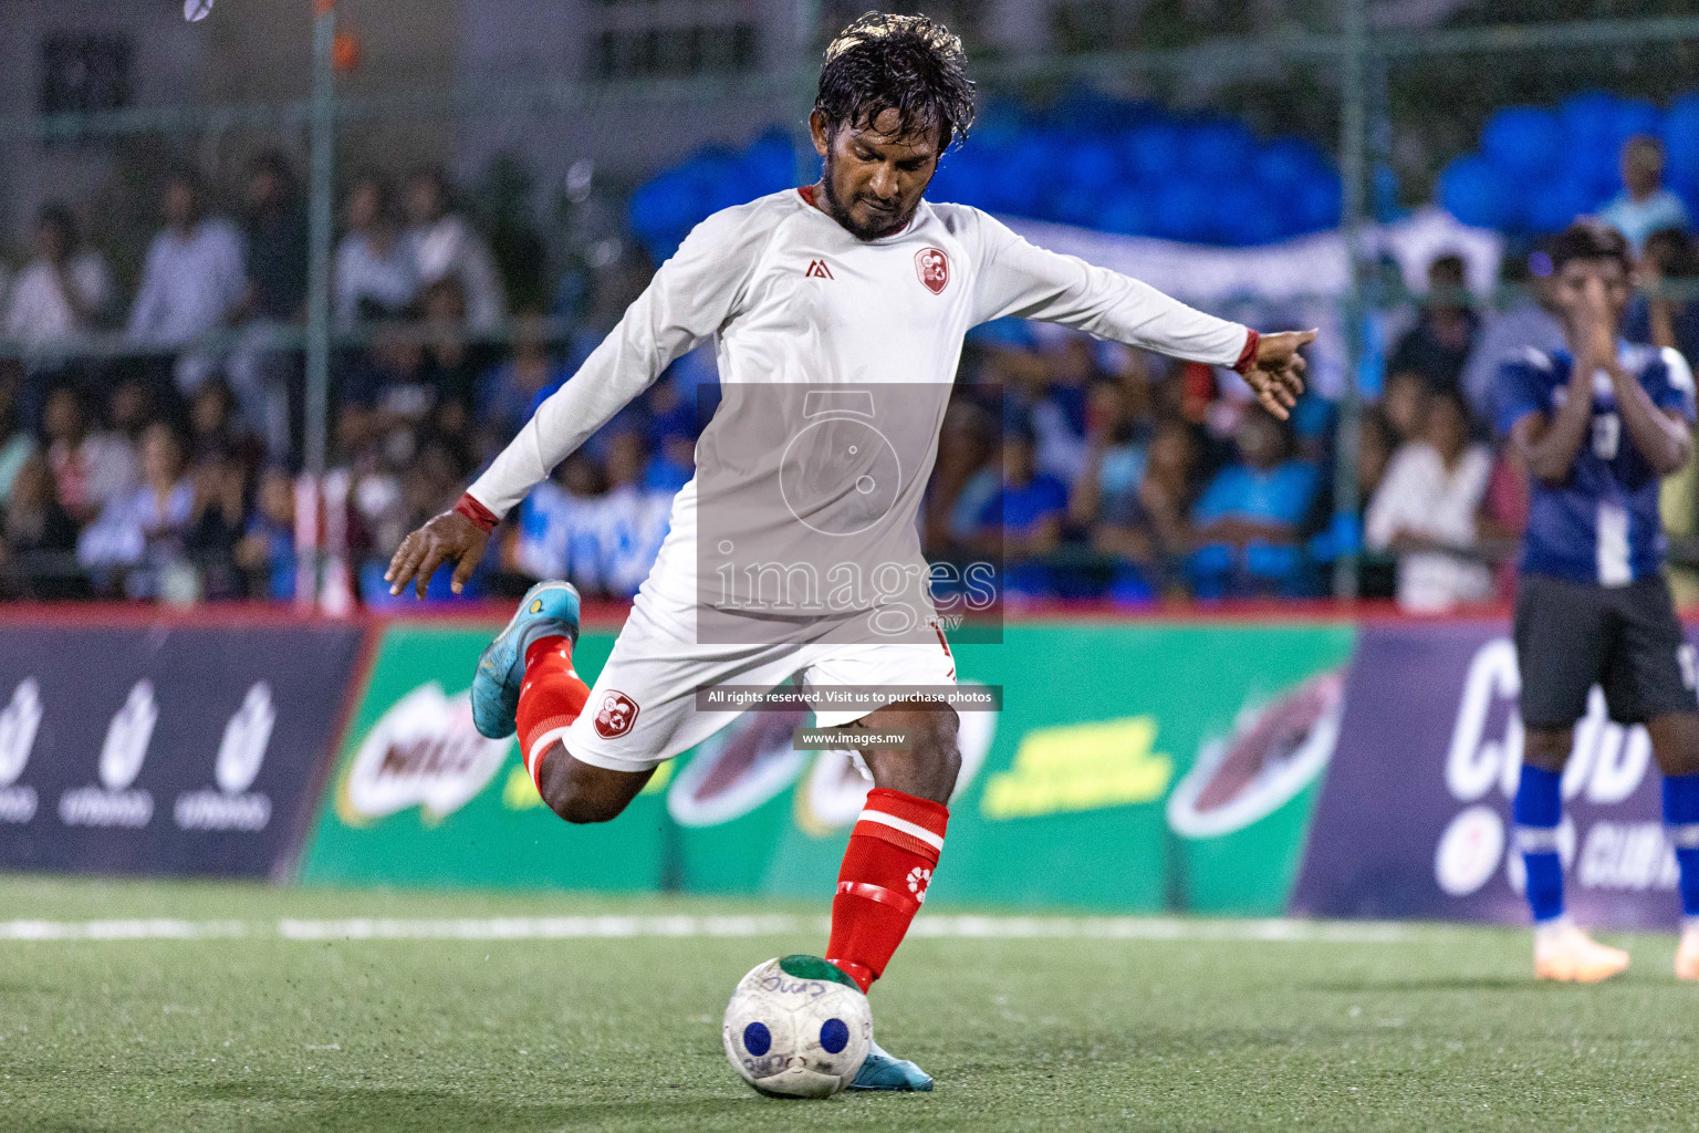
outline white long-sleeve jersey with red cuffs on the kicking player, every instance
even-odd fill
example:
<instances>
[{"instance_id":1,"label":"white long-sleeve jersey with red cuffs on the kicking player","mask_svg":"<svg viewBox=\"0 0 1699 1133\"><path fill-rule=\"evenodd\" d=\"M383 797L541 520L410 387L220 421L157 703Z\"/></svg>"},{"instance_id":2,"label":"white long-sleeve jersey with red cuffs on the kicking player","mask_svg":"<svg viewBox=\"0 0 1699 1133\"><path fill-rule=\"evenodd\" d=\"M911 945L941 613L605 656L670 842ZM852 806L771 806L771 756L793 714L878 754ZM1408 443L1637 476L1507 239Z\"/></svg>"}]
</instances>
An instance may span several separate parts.
<instances>
[{"instance_id":1,"label":"white long-sleeve jersey with red cuffs on the kicking player","mask_svg":"<svg viewBox=\"0 0 1699 1133\"><path fill-rule=\"evenodd\" d=\"M710 336L722 384L950 384L967 331L1004 316L1211 365L1233 365L1249 336L1135 279L1045 251L979 209L923 200L900 233L863 241L814 207L810 190L785 190L698 224L469 493L506 515ZM695 481L673 504L651 583L668 572L691 583L693 545Z\"/></svg>"}]
</instances>

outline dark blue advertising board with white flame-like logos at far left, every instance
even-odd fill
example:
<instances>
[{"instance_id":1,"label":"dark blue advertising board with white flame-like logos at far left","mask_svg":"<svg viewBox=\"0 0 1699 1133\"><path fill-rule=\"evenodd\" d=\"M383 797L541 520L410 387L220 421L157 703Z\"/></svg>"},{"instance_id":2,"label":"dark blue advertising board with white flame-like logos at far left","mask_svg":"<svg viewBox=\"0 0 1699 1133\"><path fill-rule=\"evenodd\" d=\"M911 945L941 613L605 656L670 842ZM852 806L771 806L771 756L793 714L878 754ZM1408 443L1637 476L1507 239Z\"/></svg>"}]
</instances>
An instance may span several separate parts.
<instances>
[{"instance_id":1,"label":"dark blue advertising board with white flame-like logos at far left","mask_svg":"<svg viewBox=\"0 0 1699 1133\"><path fill-rule=\"evenodd\" d=\"M0 870L289 877L360 630L0 625Z\"/></svg>"}]
</instances>

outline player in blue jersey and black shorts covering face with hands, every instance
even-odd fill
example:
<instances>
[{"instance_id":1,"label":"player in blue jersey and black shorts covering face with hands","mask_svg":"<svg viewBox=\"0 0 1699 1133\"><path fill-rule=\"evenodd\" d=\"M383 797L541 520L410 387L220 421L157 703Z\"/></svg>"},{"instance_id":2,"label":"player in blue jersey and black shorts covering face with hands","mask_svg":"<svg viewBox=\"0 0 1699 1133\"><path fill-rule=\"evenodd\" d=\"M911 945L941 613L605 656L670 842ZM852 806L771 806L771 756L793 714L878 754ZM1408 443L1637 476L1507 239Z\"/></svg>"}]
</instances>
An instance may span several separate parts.
<instances>
[{"instance_id":1,"label":"player in blue jersey and black shorts covering face with hands","mask_svg":"<svg viewBox=\"0 0 1699 1133\"><path fill-rule=\"evenodd\" d=\"M1694 382L1675 350L1623 341L1628 243L1594 221L1553 248L1568 348L1499 375L1499 423L1527 460L1531 499L1516 603L1522 773L1516 837L1534 914L1534 973L1594 982L1628 953L1565 914L1561 780L1594 685L1611 719L1645 724L1685 916L1675 973L1699 978L1699 700L1694 654L1663 579L1660 479L1692 455Z\"/></svg>"}]
</instances>

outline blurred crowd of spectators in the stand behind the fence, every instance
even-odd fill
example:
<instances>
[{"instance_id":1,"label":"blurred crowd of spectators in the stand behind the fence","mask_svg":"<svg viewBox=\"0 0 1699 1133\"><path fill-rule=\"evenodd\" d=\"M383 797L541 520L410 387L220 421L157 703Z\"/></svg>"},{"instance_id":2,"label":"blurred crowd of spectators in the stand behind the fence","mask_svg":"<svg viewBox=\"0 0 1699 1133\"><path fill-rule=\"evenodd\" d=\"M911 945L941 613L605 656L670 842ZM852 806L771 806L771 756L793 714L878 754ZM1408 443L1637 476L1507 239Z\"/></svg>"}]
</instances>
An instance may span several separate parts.
<instances>
[{"instance_id":1,"label":"blurred crowd of spectators in the stand behind the fence","mask_svg":"<svg viewBox=\"0 0 1699 1133\"><path fill-rule=\"evenodd\" d=\"M1628 189L1604 211L1643 248L1626 335L1696 357L1699 302L1660 287L1699 277L1699 255L1657 170L1657 143L1629 143ZM627 255L571 306L513 311L491 233L440 172L355 180L331 280L328 447L348 491L326 504L297 481L306 200L279 153L251 160L238 195L224 216L195 177L168 178L133 294L66 206L42 209L0 277L5 596L289 600L297 542L338 530L335 567L365 603L389 603L381 576L401 537L454 504L646 279ZM979 328L926 549L1001 557L1013 601L1324 596L1347 554L1364 596L1408 610L1504 600L1526 474L1493 435L1493 379L1507 357L1561 345L1546 275L1538 245L1517 250L1488 302L1468 294L1461 258L1436 258L1425 297L1378 316L1385 365L1344 477L1335 403L1312 394L1278 421L1225 370L1041 324ZM90 343L105 348L65 350ZM630 596L715 389L712 350L676 362L510 516L467 596L562 576ZM1356 515L1341 518L1339 481L1354 482ZM1692 471L1670 481L1679 549L1696 499ZM450 600L442 578L432 593Z\"/></svg>"}]
</instances>

